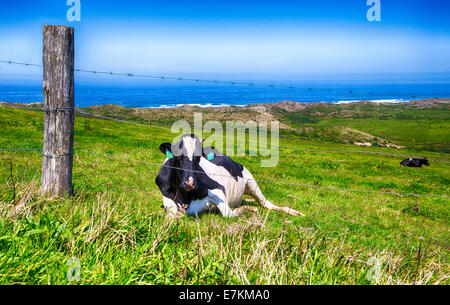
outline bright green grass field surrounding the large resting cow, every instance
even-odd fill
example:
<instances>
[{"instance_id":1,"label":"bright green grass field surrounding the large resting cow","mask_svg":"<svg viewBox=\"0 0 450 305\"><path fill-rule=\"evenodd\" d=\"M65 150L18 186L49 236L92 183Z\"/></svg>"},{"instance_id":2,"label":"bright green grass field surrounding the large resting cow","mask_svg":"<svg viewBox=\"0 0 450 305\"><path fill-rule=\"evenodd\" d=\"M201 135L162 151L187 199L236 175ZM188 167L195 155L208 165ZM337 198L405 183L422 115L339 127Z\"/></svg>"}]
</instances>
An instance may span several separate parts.
<instances>
[{"instance_id":1,"label":"bright green grass field surrounding the large resting cow","mask_svg":"<svg viewBox=\"0 0 450 305\"><path fill-rule=\"evenodd\" d=\"M443 111L426 141L449 142L449 112ZM42 116L0 107L0 148L41 148ZM314 124L348 123L408 140L408 124L420 119L414 122L336 118ZM164 160L159 144L173 137L164 129L76 117L74 196L67 199L39 197L39 152L0 152L0 284L450 284L448 198L260 182L269 200L306 217L259 208L238 219L171 220L154 180ZM280 145L450 161L425 145L396 150L286 138ZM257 180L449 195L449 163L405 168L403 157L292 148L280 148L275 168L261 168L260 157L234 159ZM80 261L80 281L68 280L72 257Z\"/></svg>"}]
</instances>

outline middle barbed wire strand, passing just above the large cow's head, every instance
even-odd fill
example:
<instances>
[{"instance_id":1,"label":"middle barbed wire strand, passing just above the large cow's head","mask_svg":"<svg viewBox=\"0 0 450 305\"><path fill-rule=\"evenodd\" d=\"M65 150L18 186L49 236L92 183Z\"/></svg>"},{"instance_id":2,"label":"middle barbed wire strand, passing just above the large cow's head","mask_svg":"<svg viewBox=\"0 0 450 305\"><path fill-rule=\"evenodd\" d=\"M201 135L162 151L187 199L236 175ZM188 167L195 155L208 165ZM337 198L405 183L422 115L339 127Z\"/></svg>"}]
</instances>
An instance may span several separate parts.
<instances>
[{"instance_id":1,"label":"middle barbed wire strand, passing just above the large cow's head","mask_svg":"<svg viewBox=\"0 0 450 305\"><path fill-rule=\"evenodd\" d=\"M15 106L6 106L6 107L13 108L13 109L32 110L32 111L45 111L45 108L36 108L36 107L33 107L33 108L15 107ZM87 115L87 116L92 116L92 117L95 117L98 119L103 119L103 120L108 120L108 121L116 121L116 122L127 123L127 124L132 124L132 125L137 125L137 126L150 127L150 128L159 128L159 129L164 129L164 130L169 130L169 131L172 130L171 128L165 127L165 126L141 124L141 123L136 123L136 122L126 121L126 120L122 120L122 119L116 119L116 118L111 118L111 117L106 117L106 116L89 113L89 112L80 110L81 107L78 107L78 106L75 106L74 109L75 109L75 112L78 112L80 114ZM254 134L254 133L252 133L252 134ZM280 136L279 138L289 139L289 140L297 139L297 138L292 138L292 137L287 137L287 136ZM249 141L248 144L257 144L257 143ZM405 157L405 158L423 158L423 157L414 156L414 155L395 154L395 153L377 152L377 151L369 151L369 150L353 150L353 149L324 150L324 149L292 147L292 146L286 146L286 145L273 145L273 147L274 148L286 148L286 149L292 149L292 150L297 150L297 151L318 152L318 153L364 153L364 154L376 154L376 155L386 155L386 156ZM428 159L428 161L450 164L450 161L445 161L445 160Z\"/></svg>"}]
</instances>

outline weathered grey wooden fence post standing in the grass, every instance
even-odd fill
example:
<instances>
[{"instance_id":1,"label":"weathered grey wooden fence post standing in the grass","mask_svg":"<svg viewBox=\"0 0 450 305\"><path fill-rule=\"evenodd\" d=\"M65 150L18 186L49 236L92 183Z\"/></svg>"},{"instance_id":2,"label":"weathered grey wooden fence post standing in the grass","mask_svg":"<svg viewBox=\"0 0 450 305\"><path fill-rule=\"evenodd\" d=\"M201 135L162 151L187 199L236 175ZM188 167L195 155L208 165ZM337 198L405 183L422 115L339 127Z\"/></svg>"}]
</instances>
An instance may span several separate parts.
<instances>
[{"instance_id":1,"label":"weathered grey wooden fence post standing in the grass","mask_svg":"<svg viewBox=\"0 0 450 305\"><path fill-rule=\"evenodd\" d=\"M44 25L44 145L41 193L72 193L74 29Z\"/></svg>"}]
</instances>

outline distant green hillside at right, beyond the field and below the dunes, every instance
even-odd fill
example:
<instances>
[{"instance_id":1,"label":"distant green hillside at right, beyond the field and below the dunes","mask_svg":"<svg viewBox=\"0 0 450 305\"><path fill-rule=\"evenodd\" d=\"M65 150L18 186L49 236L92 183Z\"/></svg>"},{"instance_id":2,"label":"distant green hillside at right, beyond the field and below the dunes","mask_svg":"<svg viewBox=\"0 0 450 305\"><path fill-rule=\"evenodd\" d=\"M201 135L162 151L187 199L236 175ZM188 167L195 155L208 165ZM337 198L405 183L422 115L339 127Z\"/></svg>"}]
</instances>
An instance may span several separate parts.
<instances>
[{"instance_id":1,"label":"distant green hillside at right, beyond the field and below the dunes","mask_svg":"<svg viewBox=\"0 0 450 305\"><path fill-rule=\"evenodd\" d=\"M449 153L450 104L448 100L444 100L446 103L427 101L326 104L298 111L274 110L280 120L297 128L312 127L323 133L333 127L345 126L377 137L373 142L387 140L414 149Z\"/></svg>"}]
</instances>

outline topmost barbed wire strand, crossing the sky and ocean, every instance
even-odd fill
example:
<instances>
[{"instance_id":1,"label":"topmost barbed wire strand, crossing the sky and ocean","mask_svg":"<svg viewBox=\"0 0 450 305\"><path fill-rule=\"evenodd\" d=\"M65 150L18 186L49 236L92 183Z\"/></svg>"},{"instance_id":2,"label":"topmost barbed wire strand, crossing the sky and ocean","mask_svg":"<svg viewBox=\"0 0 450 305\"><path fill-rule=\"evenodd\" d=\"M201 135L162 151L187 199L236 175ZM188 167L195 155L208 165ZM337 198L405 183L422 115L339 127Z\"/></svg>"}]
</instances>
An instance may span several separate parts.
<instances>
[{"instance_id":1,"label":"topmost barbed wire strand, crossing the sky and ocean","mask_svg":"<svg viewBox=\"0 0 450 305\"><path fill-rule=\"evenodd\" d=\"M41 64L31 64L26 62L17 62L13 60L0 60L0 63L10 64L10 65L21 65L21 66L32 66L40 67ZM266 87L266 88L284 88L284 89L296 89L304 91L327 91L327 92L337 92L346 94L360 94L360 95L371 95L371 96L391 96L391 97L408 97L417 98L417 95L413 94L395 94L395 93L378 93L374 91L370 92L360 92L355 90L344 90L335 88L315 88L310 86L289 86L289 85L278 85L278 84L264 84L257 82L245 82L245 81L227 81L218 79L203 79L203 78L189 78L189 77L179 77L179 76L164 76L164 75L146 75L138 73L121 73L121 72L108 72L108 71L97 71L97 70L86 70L75 68L75 72L89 73L89 74L102 74L110 76L126 76L126 77L137 77L137 78L148 78L148 79L158 79L158 80L175 80L175 81L187 81L196 83L210 83L210 84L222 84L222 85L237 85L237 86L250 86L250 87Z\"/></svg>"}]
</instances>

